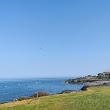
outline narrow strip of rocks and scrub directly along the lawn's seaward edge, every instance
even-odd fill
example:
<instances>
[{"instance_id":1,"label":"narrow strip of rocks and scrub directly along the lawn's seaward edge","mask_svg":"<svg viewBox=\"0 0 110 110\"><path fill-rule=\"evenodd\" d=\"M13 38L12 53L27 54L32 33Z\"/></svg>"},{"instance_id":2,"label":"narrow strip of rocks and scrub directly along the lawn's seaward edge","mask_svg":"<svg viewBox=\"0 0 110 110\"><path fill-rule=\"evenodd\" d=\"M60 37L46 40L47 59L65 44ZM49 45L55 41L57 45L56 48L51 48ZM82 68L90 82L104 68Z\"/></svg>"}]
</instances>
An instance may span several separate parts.
<instances>
[{"instance_id":1,"label":"narrow strip of rocks and scrub directly along the lawn's seaward edge","mask_svg":"<svg viewBox=\"0 0 110 110\"><path fill-rule=\"evenodd\" d=\"M10 102L16 102L16 101L22 101L22 100L29 100L29 99L33 99L33 98L45 97L45 96L69 94L69 93L73 93L73 92L74 93L83 92L83 91L87 91L87 89L90 87L100 87L100 86L110 86L110 81L87 82L87 83L84 83L84 86L80 90L64 90L60 93L55 93L55 94L49 94L47 92L36 92L32 96L21 96L18 99L13 99L12 101L9 101L9 102L2 102L2 103L0 103L0 105L5 104L5 103L10 103Z\"/></svg>"}]
</instances>

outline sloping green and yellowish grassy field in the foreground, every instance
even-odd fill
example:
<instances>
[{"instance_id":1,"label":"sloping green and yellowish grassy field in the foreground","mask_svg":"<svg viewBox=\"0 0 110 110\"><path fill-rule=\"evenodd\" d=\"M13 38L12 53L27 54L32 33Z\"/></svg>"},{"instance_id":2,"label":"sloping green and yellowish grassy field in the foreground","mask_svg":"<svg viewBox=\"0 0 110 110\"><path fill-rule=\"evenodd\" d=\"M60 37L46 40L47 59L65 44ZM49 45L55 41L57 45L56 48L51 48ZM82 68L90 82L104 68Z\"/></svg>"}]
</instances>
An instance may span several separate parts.
<instances>
[{"instance_id":1,"label":"sloping green and yellowish grassy field in the foreground","mask_svg":"<svg viewBox=\"0 0 110 110\"><path fill-rule=\"evenodd\" d=\"M110 110L110 87L10 102L1 104L0 110Z\"/></svg>"}]
</instances>

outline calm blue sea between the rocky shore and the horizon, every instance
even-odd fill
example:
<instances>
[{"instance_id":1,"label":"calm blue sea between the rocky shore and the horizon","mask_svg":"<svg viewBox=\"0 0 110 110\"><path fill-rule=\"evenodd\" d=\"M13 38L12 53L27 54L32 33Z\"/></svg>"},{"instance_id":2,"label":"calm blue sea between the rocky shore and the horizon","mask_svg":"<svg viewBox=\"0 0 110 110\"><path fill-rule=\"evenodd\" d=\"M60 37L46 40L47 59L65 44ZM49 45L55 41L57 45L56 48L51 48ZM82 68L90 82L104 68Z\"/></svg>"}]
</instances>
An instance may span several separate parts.
<instances>
[{"instance_id":1,"label":"calm blue sea between the rocky shore and the horizon","mask_svg":"<svg viewBox=\"0 0 110 110\"><path fill-rule=\"evenodd\" d=\"M20 96L31 96L38 91L50 94L63 90L79 90L82 84L65 84L68 78L0 79L0 103L9 102Z\"/></svg>"}]
</instances>

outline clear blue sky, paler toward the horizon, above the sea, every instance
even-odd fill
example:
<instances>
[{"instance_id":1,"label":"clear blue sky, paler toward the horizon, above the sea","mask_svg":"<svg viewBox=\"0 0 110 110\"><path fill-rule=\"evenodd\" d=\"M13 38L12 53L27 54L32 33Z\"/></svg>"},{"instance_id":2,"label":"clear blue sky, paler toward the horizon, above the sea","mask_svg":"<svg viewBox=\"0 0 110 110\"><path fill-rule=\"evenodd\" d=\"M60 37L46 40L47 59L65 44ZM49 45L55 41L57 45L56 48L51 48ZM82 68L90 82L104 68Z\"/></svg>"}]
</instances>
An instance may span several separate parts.
<instances>
[{"instance_id":1,"label":"clear blue sky, paler toward the horizon, above the sea","mask_svg":"<svg viewBox=\"0 0 110 110\"><path fill-rule=\"evenodd\" d=\"M110 0L0 0L0 77L72 77L110 69Z\"/></svg>"}]
</instances>

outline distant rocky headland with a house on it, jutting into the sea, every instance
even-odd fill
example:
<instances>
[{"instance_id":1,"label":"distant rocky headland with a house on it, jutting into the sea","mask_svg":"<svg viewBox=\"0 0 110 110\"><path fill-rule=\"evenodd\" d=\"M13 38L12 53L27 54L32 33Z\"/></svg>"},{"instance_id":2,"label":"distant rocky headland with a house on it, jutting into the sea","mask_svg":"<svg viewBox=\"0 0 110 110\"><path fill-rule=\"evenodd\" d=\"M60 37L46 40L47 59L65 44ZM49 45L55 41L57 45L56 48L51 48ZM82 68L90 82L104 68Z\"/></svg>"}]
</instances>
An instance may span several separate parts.
<instances>
[{"instance_id":1,"label":"distant rocky headland with a house on it, jutting into the sea","mask_svg":"<svg viewBox=\"0 0 110 110\"><path fill-rule=\"evenodd\" d=\"M87 87L91 86L110 86L110 70L98 73L95 76L88 75L75 79L66 80L65 83L69 84L84 84Z\"/></svg>"}]
</instances>

